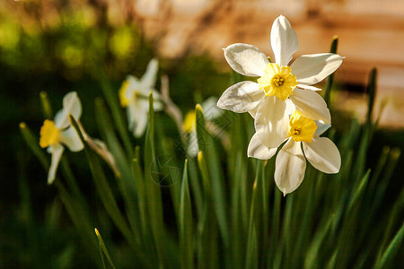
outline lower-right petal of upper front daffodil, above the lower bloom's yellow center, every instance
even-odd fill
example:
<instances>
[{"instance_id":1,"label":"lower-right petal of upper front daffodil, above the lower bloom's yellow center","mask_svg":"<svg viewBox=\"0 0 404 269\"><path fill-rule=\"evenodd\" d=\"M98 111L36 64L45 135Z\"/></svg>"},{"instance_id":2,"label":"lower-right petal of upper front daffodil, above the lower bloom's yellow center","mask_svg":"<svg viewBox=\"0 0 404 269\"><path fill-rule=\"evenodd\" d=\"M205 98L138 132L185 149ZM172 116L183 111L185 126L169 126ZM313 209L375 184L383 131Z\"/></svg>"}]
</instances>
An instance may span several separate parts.
<instances>
[{"instance_id":1,"label":"lower-right petal of upper front daffodil, above the lower bloom's yellow center","mask_svg":"<svg viewBox=\"0 0 404 269\"><path fill-rule=\"evenodd\" d=\"M331 122L327 103L317 92L294 88L294 94L290 95L289 98L304 117L321 120L324 124Z\"/></svg>"}]
</instances>

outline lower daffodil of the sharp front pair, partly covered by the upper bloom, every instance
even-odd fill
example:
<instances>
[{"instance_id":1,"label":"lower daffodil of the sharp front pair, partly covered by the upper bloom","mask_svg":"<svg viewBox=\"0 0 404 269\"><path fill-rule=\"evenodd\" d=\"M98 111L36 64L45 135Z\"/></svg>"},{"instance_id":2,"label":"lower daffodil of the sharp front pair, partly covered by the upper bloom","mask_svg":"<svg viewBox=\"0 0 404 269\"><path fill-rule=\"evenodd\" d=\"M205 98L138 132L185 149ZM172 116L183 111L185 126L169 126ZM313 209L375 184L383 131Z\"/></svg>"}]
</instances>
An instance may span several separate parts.
<instances>
[{"instance_id":1,"label":"lower daffodil of the sharp front pair, partly covered by the upper bloom","mask_svg":"<svg viewBox=\"0 0 404 269\"><path fill-rule=\"evenodd\" d=\"M277 153L275 182L284 195L289 194L303 181L306 159L324 173L338 173L341 166L338 148L329 138L320 137L329 127L296 110L290 116L286 127L288 138L281 150L277 153L277 148L268 148L261 143L259 135L254 134L249 144L249 157L268 160Z\"/></svg>"}]
</instances>

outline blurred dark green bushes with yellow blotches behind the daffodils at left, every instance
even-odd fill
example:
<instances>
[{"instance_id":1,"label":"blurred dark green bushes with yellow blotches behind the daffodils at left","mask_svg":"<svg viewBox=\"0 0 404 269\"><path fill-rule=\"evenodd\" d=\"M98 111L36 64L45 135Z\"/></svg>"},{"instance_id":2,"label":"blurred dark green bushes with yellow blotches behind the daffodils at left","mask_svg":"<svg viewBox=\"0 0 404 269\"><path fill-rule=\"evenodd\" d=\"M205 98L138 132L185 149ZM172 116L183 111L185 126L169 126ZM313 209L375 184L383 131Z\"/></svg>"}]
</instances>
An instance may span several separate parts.
<instances>
[{"instance_id":1,"label":"blurred dark green bushes with yellow blotches behind the daffodils at left","mask_svg":"<svg viewBox=\"0 0 404 269\"><path fill-rule=\"evenodd\" d=\"M100 66L118 91L127 74L140 76L148 60L155 56L153 40L143 39L136 25L112 26L105 19L105 13L94 13L91 8L94 7L66 9L60 13L60 20L55 25L47 27L33 22L25 25L20 13L0 9L0 124L3 130L0 149L0 175L3 178L0 188L0 266L4 268L92 265L81 251L71 221L60 210L56 189L47 186L45 171L23 143L18 130L19 123L24 121L39 134L43 121L40 91L48 92L54 108L60 107L60 100L66 92L78 91L85 104L83 124L90 134L96 134L97 126L92 115L93 100L101 96ZM214 60L195 55L176 60L162 59L160 74L169 75L171 97L181 104L183 112L211 95L219 96L231 79L230 74L218 71ZM159 85L158 82L157 89ZM337 129L344 132L351 120L341 115L341 126L336 126ZM172 132L171 138L178 138L176 135ZM404 149L404 130L377 130L367 155L366 168L375 166L383 145ZM84 164L84 157L75 156L74 160L77 178L88 176L90 171ZM401 157L387 187L381 215L394 202L390 197L399 195L404 186L403 175ZM89 180L79 184L86 195L95 196ZM33 215L22 206L24 204L31 204ZM97 204L90 204L90 207L97 211ZM108 230L112 230L110 220L100 210L96 214L104 223L103 230L109 234ZM120 240L116 231L111 233L114 239ZM121 254L115 259L121 257L122 264L130 265L131 259L125 247L112 251ZM44 261L48 264L43 264Z\"/></svg>"}]
</instances>

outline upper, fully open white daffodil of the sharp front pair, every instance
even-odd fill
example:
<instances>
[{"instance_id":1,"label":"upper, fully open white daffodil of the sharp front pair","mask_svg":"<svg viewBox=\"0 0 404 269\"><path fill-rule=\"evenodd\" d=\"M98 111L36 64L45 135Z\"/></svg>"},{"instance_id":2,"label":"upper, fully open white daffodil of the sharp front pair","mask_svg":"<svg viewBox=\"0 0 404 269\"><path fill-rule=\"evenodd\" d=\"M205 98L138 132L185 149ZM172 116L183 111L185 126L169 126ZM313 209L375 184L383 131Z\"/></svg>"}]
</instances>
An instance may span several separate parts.
<instances>
[{"instance_id":1,"label":"upper, fully open white daffodil of the sharp front pair","mask_svg":"<svg viewBox=\"0 0 404 269\"><path fill-rule=\"evenodd\" d=\"M284 16L279 16L271 30L271 47L275 63L252 45L237 43L224 48L227 63L237 73L258 77L257 82L239 82L224 91L217 102L219 108L233 112L249 112L255 118L257 135L271 134L261 141L275 148L285 139L288 125L287 102L292 102L304 117L330 123L326 102L312 84L321 82L341 65L343 56L332 53L303 55L292 60L297 50L297 37Z\"/></svg>"}]
</instances>

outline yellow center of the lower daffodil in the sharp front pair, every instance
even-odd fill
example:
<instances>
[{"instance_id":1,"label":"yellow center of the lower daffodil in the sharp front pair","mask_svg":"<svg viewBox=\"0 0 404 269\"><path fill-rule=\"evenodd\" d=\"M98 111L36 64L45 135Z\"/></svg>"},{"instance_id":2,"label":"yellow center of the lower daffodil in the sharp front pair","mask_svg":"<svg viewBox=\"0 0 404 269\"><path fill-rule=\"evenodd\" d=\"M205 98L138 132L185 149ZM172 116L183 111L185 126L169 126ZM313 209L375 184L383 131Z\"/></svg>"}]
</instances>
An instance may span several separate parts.
<instances>
[{"instance_id":1,"label":"yellow center of the lower daffodil in the sharp front pair","mask_svg":"<svg viewBox=\"0 0 404 269\"><path fill-rule=\"evenodd\" d=\"M304 117L297 111L289 119L288 134L294 141L312 142L312 137L316 132L317 126L314 120Z\"/></svg>"}]
</instances>

